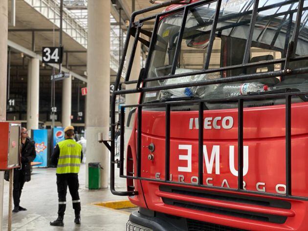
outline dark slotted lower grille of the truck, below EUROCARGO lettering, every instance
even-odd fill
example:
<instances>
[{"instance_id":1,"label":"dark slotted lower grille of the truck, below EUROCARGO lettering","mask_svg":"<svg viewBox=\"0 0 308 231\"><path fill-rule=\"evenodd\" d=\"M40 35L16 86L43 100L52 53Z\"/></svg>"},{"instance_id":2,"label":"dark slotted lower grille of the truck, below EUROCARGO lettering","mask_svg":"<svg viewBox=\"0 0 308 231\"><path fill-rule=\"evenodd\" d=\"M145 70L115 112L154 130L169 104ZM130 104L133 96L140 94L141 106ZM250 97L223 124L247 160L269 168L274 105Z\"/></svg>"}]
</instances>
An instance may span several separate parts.
<instances>
[{"instance_id":1,"label":"dark slotted lower grille of the truck, below EUROCARGO lettering","mask_svg":"<svg viewBox=\"0 0 308 231\"><path fill-rule=\"evenodd\" d=\"M240 217L250 220L257 220L269 223L276 223L276 224L284 224L286 222L287 216L285 213L283 215L277 213L263 213L262 211L257 212L255 210L241 210L241 209L234 209L234 208L225 208L220 206L214 206L209 204L202 204L198 202L193 202L189 200L181 200L178 197L173 198L172 193L174 195L183 195L183 196L191 196L196 198L205 198L205 199L212 199L217 201L226 201L226 203L234 202L240 203L242 205L248 205L250 208L254 206L263 206L267 208L280 208L284 209L285 211L290 210L291 204L284 200L278 199L270 199L270 198L260 198L260 197L253 197L253 196L244 196L244 195L236 195L230 193L220 193L220 192L213 192L208 190L199 190L199 189L188 189L188 188L179 188L173 186L165 186L161 185L159 187L160 191L162 192L169 192L169 197L166 194L161 195L163 202L166 205L176 206L185 209L191 210L199 210L204 212L212 212L221 215L233 216L233 217ZM168 194L168 193L167 193Z\"/></svg>"}]
</instances>

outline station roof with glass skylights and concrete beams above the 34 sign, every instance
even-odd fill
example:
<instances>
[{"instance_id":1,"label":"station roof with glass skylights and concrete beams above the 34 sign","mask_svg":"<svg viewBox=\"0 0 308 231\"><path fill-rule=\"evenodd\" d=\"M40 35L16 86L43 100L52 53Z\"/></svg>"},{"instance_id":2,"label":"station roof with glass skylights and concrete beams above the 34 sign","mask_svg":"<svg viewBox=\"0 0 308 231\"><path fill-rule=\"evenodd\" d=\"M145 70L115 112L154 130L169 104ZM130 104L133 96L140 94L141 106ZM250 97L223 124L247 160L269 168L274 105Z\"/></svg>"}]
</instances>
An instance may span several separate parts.
<instances>
[{"instance_id":1,"label":"station roof with glass skylights and concrete beams above the 34 sign","mask_svg":"<svg viewBox=\"0 0 308 231\"><path fill-rule=\"evenodd\" d=\"M9 0L9 14L12 12L11 2L12 0ZM132 8L137 10L152 4L148 0L111 0L110 4L112 82L112 77L116 75L118 69L120 44L123 46L125 42L127 21L130 19ZM69 70L73 77L83 82L87 82L87 6L88 0L64 0L63 66L66 68L65 71ZM25 61L22 55L40 57L42 47L59 45L60 0L16 0L15 10L16 24L9 26L8 45L12 50L11 66L23 67ZM50 68L43 68L41 75L50 75Z\"/></svg>"}]
</instances>

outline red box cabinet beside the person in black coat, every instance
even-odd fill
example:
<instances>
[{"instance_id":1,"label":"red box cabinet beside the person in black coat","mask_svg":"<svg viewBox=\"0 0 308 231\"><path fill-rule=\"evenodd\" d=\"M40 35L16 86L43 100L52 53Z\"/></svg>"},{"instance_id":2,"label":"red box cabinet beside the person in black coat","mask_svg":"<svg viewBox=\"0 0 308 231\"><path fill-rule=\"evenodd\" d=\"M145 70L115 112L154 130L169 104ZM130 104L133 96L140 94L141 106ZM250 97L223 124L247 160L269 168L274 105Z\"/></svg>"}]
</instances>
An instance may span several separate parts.
<instances>
[{"instance_id":1,"label":"red box cabinet beside the person in black coat","mask_svg":"<svg viewBox=\"0 0 308 231\"><path fill-rule=\"evenodd\" d=\"M20 167L21 125L0 122L0 170Z\"/></svg>"}]
</instances>

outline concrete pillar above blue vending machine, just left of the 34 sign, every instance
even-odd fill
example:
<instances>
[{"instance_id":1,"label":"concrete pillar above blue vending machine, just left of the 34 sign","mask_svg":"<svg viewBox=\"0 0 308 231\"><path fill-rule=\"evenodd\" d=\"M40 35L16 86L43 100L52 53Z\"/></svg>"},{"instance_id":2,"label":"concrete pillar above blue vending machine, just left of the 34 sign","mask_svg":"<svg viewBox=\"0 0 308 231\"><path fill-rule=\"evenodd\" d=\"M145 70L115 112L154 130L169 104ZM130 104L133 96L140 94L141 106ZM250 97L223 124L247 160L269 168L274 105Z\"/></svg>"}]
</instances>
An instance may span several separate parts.
<instances>
[{"instance_id":1,"label":"concrete pillar above blue vending machine, just left of the 34 sign","mask_svg":"<svg viewBox=\"0 0 308 231\"><path fill-rule=\"evenodd\" d=\"M40 60L32 58L28 63L27 129L39 128ZM29 133L30 134L30 133Z\"/></svg>"}]
</instances>

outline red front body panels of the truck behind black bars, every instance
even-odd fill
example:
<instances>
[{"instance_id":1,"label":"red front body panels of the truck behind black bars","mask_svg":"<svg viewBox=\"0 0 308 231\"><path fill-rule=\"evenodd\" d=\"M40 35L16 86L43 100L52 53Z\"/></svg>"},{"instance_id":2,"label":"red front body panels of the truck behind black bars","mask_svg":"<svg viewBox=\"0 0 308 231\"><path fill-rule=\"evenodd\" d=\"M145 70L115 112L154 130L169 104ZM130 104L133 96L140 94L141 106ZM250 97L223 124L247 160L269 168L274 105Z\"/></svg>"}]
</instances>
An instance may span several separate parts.
<instances>
[{"instance_id":1,"label":"red front body panels of the truck behind black bars","mask_svg":"<svg viewBox=\"0 0 308 231\"><path fill-rule=\"evenodd\" d=\"M165 112L143 111L143 121L147 121L142 126L142 173L144 178L155 179L165 177ZM247 147L247 155L244 154L244 169L247 174L244 175L245 189L251 191L264 191L270 193L285 194L286 187L286 140L285 140L285 106L267 106L244 109L243 134L244 147ZM292 193L296 196L308 196L308 158L306 151L308 149L308 104L297 103L292 105ZM209 129L204 131L204 147L206 146L207 162L204 157L203 166L203 185L216 186L223 188L237 189L237 109L211 110L205 111L204 118L226 118L232 117L234 122L232 128L224 129L221 120L217 121L220 129L215 129L212 123L209 123ZM194 118L193 129L190 129L191 118ZM185 183L196 183L198 177L198 129L195 126L195 118L198 118L198 112L171 112L171 140L170 140L170 174L172 181ZM198 124L198 123L197 123ZM136 125L136 124L135 124ZM262 125L262 126L260 126ZM136 163L136 126L132 132L128 149L132 152L133 162ZM135 136L133 135L135 134ZM148 146L155 145L154 160L148 160ZM186 146L179 149L179 146ZM217 156L213 154L213 147L216 147ZM180 155L188 156L188 150L191 148L191 159L181 159ZM245 150L245 149L244 149ZM244 152L245 153L245 152ZM230 157L231 156L231 157ZM211 158L214 158L211 164ZM232 162L234 163L232 164ZM219 163L219 164L217 164ZM247 163L247 164L246 164ZM179 167L189 168L186 171L178 171ZM206 168L209 166L209 168ZM219 166L219 171L216 167ZM231 167L230 167L231 166ZM232 169L232 170L231 170ZM134 169L136 171L136 169ZM210 173L208 173L210 172ZM244 170L245 173L245 170ZM183 176L179 178L179 175ZM192 180L192 177L193 178ZM259 185L258 185L259 183ZM260 184L261 183L261 184ZM142 185L142 187L141 187ZM306 222L308 218L308 202L281 198L280 200L290 203L289 209L269 208L267 206L251 205L248 203L228 203L223 199L204 199L198 196L188 196L185 194L170 193L161 191L159 186L169 185L155 183L151 181L137 181L136 189L142 190L142 195L138 197L129 197L133 204L137 206L146 206L150 210L168 213L179 217L196 219L204 222L216 223L224 226L235 227L239 229L248 229L253 231L281 231L308 229ZM170 185L169 185L170 186ZM190 189L197 189L188 186ZM278 187L278 188L277 188ZM200 189L199 189L200 190ZM201 189L212 192L222 192L219 189ZM239 194L238 192L228 192L230 194ZM243 193L241 193L244 195ZM177 198L183 202L195 202L205 205L217 206L220 208L236 208L241 211L260 212L264 214L279 214L286 216L284 224L270 224L264 221L232 217L228 215L219 215L213 212L199 211L176 207L165 204L162 198ZM256 195L256 200L261 198L277 199L276 197Z\"/></svg>"}]
</instances>

